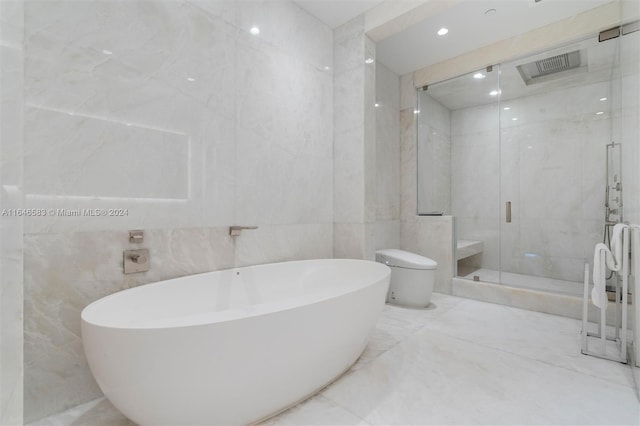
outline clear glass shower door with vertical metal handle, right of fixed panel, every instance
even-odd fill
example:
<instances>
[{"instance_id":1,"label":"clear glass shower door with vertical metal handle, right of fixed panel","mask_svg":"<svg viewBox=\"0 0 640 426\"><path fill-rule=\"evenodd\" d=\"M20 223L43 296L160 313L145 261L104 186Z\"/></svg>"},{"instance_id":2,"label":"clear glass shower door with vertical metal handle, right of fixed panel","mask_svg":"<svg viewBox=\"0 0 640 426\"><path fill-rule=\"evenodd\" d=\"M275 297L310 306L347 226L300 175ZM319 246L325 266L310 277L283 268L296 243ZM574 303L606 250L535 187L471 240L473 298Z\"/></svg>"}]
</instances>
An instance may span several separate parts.
<instances>
[{"instance_id":1,"label":"clear glass shower door with vertical metal handle, right of fixed panel","mask_svg":"<svg viewBox=\"0 0 640 426\"><path fill-rule=\"evenodd\" d=\"M607 189L622 202L618 56L619 39L594 36L501 65L500 196L512 210L500 222L503 284L581 294L607 230Z\"/></svg>"}]
</instances>

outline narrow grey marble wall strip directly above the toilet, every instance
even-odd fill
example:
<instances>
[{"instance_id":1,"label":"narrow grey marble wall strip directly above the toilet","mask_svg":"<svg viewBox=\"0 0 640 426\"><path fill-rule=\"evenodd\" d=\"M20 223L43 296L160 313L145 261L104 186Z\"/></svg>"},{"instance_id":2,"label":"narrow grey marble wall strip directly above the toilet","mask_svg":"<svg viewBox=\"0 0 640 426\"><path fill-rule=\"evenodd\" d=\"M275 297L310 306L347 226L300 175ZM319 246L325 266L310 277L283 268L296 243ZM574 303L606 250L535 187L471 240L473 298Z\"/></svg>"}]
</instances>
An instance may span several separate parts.
<instances>
[{"instance_id":1,"label":"narrow grey marble wall strip directly above the toilet","mask_svg":"<svg viewBox=\"0 0 640 426\"><path fill-rule=\"evenodd\" d=\"M400 77L376 63L376 249L400 247Z\"/></svg>"}]
</instances>

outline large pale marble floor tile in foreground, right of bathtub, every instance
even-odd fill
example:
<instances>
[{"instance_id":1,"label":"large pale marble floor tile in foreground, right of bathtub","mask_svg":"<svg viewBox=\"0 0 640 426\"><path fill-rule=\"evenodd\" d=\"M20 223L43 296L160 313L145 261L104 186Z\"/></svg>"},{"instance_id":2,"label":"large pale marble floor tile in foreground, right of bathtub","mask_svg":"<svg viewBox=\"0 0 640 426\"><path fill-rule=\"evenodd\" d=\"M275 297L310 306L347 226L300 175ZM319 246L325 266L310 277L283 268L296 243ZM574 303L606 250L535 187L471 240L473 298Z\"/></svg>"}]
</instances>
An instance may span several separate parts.
<instances>
[{"instance_id":1,"label":"large pale marble floor tile in foreground, right of bathtub","mask_svg":"<svg viewBox=\"0 0 640 426\"><path fill-rule=\"evenodd\" d=\"M628 386L429 329L322 395L373 425L637 425L640 419Z\"/></svg>"}]
</instances>

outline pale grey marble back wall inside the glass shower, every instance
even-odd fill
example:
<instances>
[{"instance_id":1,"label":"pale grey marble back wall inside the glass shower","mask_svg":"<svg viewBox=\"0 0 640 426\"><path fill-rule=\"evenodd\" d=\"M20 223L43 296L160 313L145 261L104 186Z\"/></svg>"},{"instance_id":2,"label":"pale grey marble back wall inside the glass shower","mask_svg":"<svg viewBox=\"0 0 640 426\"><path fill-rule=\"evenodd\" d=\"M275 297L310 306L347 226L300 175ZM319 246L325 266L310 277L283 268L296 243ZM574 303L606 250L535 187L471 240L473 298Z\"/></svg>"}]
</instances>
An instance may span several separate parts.
<instances>
[{"instance_id":1,"label":"pale grey marble back wall inside the glass shower","mask_svg":"<svg viewBox=\"0 0 640 426\"><path fill-rule=\"evenodd\" d=\"M611 96L603 82L452 112L453 213L459 238L484 241L483 267L581 281L602 240L605 144L619 111L599 99Z\"/></svg>"}]
</instances>

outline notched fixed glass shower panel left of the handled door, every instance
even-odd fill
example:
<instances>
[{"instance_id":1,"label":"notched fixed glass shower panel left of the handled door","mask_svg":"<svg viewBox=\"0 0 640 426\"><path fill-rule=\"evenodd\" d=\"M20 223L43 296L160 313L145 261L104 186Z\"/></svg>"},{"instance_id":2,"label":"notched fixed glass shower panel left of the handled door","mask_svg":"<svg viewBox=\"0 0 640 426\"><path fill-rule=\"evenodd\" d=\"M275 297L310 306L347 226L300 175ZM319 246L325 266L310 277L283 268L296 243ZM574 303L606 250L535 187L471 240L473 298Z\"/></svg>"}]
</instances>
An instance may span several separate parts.
<instances>
[{"instance_id":1,"label":"notched fixed glass shower panel left of the handled door","mask_svg":"<svg viewBox=\"0 0 640 426\"><path fill-rule=\"evenodd\" d=\"M458 276L500 282L498 67L418 90L418 214L452 214Z\"/></svg>"}]
</instances>

